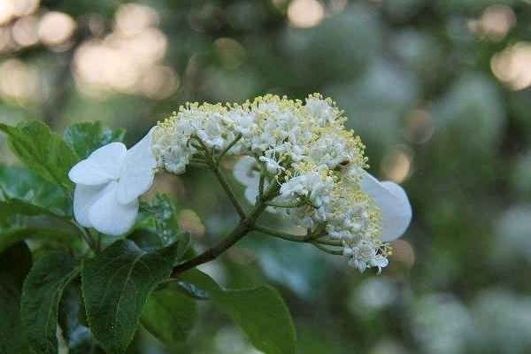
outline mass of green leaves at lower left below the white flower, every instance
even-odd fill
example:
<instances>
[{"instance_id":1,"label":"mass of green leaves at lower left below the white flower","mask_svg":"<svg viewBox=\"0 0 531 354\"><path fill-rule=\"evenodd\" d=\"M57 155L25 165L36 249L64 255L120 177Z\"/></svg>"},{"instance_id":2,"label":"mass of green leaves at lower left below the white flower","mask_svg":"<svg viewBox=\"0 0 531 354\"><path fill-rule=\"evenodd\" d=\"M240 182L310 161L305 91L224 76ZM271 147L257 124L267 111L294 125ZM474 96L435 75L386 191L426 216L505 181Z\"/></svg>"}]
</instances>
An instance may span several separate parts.
<instances>
[{"instance_id":1,"label":"mass of green leaves at lower left below the white flower","mask_svg":"<svg viewBox=\"0 0 531 354\"><path fill-rule=\"evenodd\" d=\"M104 130L99 123L73 124L62 140L37 122L2 129L12 139L12 149L21 162L47 181L20 167L3 166L1 170L5 187L0 213L6 228L0 235L4 316L0 352L29 353L32 347L39 353L58 353L59 326L71 353L125 353L140 323L162 342L178 346L188 340L196 324L196 301L207 298L234 319L258 349L274 354L295 352L289 312L273 289L222 290L199 271L182 275L173 284L173 267L193 251L170 196L157 195L143 205L144 215L135 231L104 250L101 238L107 240L107 236L97 235L97 241L71 219L71 186L65 173L79 159L76 154L87 156L90 150L121 139L121 131ZM32 129L38 129L42 139L32 140ZM41 151L47 152L46 157ZM50 158L55 155L63 158ZM19 181L13 177L16 172L23 177ZM61 205L58 190L65 194L66 205ZM36 217L41 219L32 219ZM50 229L50 220L62 226L61 232ZM34 253L39 256L31 267L31 253L22 240L36 235L42 243L35 244ZM47 250L51 240L58 241L63 250Z\"/></svg>"}]
</instances>

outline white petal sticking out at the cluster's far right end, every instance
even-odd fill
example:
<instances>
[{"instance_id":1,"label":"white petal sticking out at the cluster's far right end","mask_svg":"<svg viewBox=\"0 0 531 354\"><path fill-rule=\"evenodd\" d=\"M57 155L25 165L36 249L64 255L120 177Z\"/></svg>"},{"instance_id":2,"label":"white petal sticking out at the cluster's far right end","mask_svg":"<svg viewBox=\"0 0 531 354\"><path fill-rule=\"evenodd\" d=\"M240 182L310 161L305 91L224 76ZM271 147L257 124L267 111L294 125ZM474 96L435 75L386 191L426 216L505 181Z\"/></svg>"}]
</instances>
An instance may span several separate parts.
<instances>
[{"instance_id":1,"label":"white petal sticking out at the cluster's far right end","mask_svg":"<svg viewBox=\"0 0 531 354\"><path fill-rule=\"evenodd\" d=\"M369 173L363 173L361 189L381 210L381 240L392 241L403 235L412 220L412 205L404 189L395 182L380 182Z\"/></svg>"}]
</instances>

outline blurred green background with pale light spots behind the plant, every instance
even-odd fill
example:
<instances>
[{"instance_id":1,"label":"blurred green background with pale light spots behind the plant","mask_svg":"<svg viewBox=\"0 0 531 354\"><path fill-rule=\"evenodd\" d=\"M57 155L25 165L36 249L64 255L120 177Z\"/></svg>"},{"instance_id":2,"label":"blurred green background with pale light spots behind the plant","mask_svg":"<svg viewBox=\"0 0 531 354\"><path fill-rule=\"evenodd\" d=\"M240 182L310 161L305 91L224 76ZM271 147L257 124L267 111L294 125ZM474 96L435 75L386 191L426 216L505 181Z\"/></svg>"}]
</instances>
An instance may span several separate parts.
<instances>
[{"instance_id":1,"label":"blurred green background with pale light spots behind the plant","mask_svg":"<svg viewBox=\"0 0 531 354\"><path fill-rule=\"evenodd\" d=\"M4 123L101 119L130 144L186 101L337 101L412 199L389 268L260 235L204 267L280 289L301 354L531 352L531 1L0 0L0 26ZM157 189L198 249L236 221L208 173ZM211 310L182 348L141 331L131 352L257 353Z\"/></svg>"}]
</instances>

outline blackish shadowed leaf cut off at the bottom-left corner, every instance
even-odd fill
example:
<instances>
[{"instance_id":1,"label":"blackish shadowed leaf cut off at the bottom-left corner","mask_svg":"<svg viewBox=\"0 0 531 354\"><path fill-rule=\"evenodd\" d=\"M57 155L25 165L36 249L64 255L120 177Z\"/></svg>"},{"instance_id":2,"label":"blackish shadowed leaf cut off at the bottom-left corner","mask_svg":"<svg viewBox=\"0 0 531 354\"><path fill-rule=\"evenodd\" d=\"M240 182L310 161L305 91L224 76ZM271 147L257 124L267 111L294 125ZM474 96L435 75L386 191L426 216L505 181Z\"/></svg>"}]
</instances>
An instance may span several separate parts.
<instances>
[{"instance_id":1,"label":"blackish shadowed leaf cut off at the bottom-left corner","mask_svg":"<svg viewBox=\"0 0 531 354\"><path fill-rule=\"evenodd\" d=\"M19 314L22 284L31 264L25 242L15 243L0 253L0 354L32 353Z\"/></svg>"}]
</instances>

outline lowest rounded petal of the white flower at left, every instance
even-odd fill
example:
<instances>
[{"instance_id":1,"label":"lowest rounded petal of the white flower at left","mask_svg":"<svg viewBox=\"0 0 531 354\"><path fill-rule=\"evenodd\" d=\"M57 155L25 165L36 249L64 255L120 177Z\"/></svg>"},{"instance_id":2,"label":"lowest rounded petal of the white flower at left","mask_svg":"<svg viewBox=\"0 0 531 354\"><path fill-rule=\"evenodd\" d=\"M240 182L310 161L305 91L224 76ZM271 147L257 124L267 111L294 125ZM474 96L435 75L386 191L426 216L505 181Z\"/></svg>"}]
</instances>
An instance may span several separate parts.
<instances>
[{"instance_id":1,"label":"lowest rounded petal of the white flower at left","mask_svg":"<svg viewBox=\"0 0 531 354\"><path fill-rule=\"evenodd\" d=\"M138 200L129 204L120 204L116 199L117 184L111 182L112 188L92 205L89 219L92 227L107 235L122 235L135 224L138 214Z\"/></svg>"}]
</instances>

